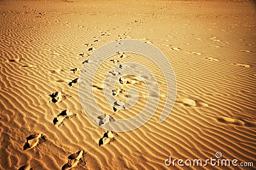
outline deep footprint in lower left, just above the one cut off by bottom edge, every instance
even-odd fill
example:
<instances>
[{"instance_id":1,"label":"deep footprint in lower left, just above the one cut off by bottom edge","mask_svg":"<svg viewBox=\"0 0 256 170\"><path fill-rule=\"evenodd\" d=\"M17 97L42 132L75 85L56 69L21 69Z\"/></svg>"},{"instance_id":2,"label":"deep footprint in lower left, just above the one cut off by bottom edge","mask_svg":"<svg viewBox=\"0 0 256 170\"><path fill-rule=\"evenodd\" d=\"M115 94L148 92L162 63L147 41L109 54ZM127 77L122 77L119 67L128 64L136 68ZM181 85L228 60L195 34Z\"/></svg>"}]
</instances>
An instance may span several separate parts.
<instances>
[{"instance_id":1,"label":"deep footprint in lower left, just above the one cut off by bottom edge","mask_svg":"<svg viewBox=\"0 0 256 170\"><path fill-rule=\"evenodd\" d=\"M31 134L27 138L27 142L23 146L23 150L29 150L35 148L40 145L40 143L46 141L45 136L43 134Z\"/></svg>"}]
</instances>

